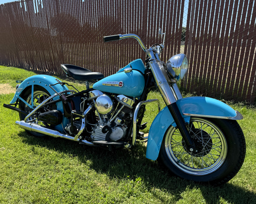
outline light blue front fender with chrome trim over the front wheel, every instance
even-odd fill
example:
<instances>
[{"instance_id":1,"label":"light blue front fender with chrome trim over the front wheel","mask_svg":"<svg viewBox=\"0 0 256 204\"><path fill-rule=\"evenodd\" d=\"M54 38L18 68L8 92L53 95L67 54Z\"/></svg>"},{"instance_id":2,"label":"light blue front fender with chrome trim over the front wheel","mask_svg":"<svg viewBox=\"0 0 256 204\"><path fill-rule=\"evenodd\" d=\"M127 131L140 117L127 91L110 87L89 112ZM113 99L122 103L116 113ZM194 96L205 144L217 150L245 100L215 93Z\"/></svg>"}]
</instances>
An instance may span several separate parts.
<instances>
[{"instance_id":1,"label":"light blue front fender with chrome trim over the front wheel","mask_svg":"<svg viewBox=\"0 0 256 204\"><path fill-rule=\"evenodd\" d=\"M182 112L182 117L188 123L191 116L224 118L224 119L242 119L242 115L227 104L208 97L187 97L178 100L177 106ZM162 140L167 129L176 126L174 119L167 107L163 108L155 117L151 124L148 144L146 149L146 158L156 160L160 151Z\"/></svg>"}]
</instances>

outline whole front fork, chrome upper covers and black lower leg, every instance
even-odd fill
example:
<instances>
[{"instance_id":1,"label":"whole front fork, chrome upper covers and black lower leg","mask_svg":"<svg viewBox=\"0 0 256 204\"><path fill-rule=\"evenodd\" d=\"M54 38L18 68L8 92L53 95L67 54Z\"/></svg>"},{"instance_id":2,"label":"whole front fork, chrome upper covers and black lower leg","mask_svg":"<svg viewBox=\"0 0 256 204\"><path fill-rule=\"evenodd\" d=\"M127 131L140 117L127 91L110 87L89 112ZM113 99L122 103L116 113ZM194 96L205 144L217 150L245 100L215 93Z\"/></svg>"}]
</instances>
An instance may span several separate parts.
<instances>
[{"instance_id":1,"label":"whole front fork, chrome upper covers and black lower leg","mask_svg":"<svg viewBox=\"0 0 256 204\"><path fill-rule=\"evenodd\" d=\"M167 81L165 76L164 66L160 60L151 60L149 62L150 69L153 73L156 85L168 107L174 121L179 129L182 138L190 152L197 152L196 146L188 132L185 121L181 115L180 110L176 104L176 101L182 98L180 90L178 89L176 81ZM162 71L163 70L163 71ZM163 73L164 72L164 73Z\"/></svg>"}]
</instances>

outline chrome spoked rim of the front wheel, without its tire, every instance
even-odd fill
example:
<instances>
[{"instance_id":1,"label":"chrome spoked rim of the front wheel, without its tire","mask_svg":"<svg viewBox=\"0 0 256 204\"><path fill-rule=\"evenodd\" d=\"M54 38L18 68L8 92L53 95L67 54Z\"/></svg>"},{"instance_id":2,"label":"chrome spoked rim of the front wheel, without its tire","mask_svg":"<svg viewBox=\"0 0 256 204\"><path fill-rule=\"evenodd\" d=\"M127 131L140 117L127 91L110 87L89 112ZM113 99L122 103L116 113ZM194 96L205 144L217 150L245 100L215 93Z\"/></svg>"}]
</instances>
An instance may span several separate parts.
<instances>
[{"instance_id":1,"label":"chrome spoked rim of the front wheel, without its tire","mask_svg":"<svg viewBox=\"0 0 256 204\"><path fill-rule=\"evenodd\" d=\"M187 151L180 131L172 126L164 141L167 157L187 174L202 176L216 171L227 154L227 142L222 131L202 118L191 118L188 130L198 152Z\"/></svg>"}]
</instances>

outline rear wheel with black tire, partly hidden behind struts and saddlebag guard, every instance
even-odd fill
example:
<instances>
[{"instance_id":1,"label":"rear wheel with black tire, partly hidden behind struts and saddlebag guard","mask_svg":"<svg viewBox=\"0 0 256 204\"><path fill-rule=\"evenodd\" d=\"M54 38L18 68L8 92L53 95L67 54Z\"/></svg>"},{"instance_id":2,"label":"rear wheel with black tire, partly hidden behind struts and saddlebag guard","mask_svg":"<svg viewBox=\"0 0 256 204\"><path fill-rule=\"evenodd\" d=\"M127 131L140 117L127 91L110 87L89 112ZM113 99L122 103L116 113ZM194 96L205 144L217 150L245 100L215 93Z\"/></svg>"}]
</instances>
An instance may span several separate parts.
<instances>
[{"instance_id":1,"label":"rear wheel with black tire, partly hidden behind struts and saddlebag guard","mask_svg":"<svg viewBox=\"0 0 256 204\"><path fill-rule=\"evenodd\" d=\"M32 96L32 91L31 91L31 87L29 89L27 89L23 94L22 94L22 98L29 104L31 104L31 96ZM34 86L34 91L33 91L33 104L34 104L34 108L36 108L40 103L42 103L46 98L50 97L49 92L44 89L42 86ZM33 109L28 107L24 102L22 102L20 100L19 103L19 108L23 111L26 111L27 113L30 113ZM42 109L39 109L39 112L46 112L46 111L51 111L53 110L54 107L43 107ZM20 116L20 120L24 120L26 115L19 113ZM32 120L33 118L28 118L28 120ZM43 125L43 126L48 126L47 124L43 124L42 122L38 123L39 125ZM26 130L27 132L29 132L30 134L34 135L34 136L39 136L42 137L44 136L43 134L37 133L37 132L31 132Z\"/></svg>"}]
</instances>

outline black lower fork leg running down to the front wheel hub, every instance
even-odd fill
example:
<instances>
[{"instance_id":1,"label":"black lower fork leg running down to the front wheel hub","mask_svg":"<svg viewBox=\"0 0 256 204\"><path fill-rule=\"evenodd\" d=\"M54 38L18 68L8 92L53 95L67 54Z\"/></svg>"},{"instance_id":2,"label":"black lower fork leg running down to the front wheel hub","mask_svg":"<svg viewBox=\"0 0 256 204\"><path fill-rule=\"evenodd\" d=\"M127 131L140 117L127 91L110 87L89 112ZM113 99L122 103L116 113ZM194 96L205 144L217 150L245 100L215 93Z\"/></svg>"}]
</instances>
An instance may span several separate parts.
<instances>
[{"instance_id":1,"label":"black lower fork leg running down to the front wheel hub","mask_svg":"<svg viewBox=\"0 0 256 204\"><path fill-rule=\"evenodd\" d=\"M188 132L188 129L185 125L185 121L182 118L182 115L181 115L181 113L178 109L177 104L172 103L172 104L169 104L167 107L168 107L172 117L174 118L174 121L175 121L178 129L180 130L180 133L182 135L182 138L185 141L186 146L188 147L188 150L190 152L196 151L196 147L194 145L194 142L191 139L191 136Z\"/></svg>"}]
</instances>

